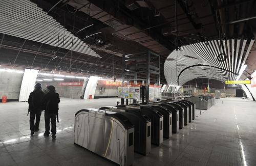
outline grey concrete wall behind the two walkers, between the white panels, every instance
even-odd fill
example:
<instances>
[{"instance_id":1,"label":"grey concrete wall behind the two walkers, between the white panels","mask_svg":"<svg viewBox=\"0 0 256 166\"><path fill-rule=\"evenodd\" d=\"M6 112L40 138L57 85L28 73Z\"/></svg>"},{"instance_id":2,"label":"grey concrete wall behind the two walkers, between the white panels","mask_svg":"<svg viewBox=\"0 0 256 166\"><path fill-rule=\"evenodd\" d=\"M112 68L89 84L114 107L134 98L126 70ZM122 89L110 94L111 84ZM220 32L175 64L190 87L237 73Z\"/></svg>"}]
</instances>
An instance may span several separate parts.
<instances>
[{"instance_id":1,"label":"grey concrete wall behind the two walkers, between the white panels","mask_svg":"<svg viewBox=\"0 0 256 166\"><path fill-rule=\"evenodd\" d=\"M82 93L82 87L70 87L70 86L58 86L58 82L41 82L42 89L45 89L46 85L52 85L55 87L60 97L67 97L72 99L80 99Z\"/></svg>"}]
</instances>

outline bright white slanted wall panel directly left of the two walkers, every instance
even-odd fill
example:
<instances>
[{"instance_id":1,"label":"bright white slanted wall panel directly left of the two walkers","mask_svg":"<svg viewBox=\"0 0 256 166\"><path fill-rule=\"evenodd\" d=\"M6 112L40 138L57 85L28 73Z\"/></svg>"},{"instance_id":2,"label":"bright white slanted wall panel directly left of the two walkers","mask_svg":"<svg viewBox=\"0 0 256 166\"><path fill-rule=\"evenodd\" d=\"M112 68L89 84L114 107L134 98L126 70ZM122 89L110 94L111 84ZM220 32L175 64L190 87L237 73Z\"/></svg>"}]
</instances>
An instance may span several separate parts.
<instances>
[{"instance_id":1,"label":"bright white slanted wall panel directly left of the two walkers","mask_svg":"<svg viewBox=\"0 0 256 166\"><path fill-rule=\"evenodd\" d=\"M39 70L25 69L18 101L28 101L30 92L33 92Z\"/></svg>"}]
</instances>

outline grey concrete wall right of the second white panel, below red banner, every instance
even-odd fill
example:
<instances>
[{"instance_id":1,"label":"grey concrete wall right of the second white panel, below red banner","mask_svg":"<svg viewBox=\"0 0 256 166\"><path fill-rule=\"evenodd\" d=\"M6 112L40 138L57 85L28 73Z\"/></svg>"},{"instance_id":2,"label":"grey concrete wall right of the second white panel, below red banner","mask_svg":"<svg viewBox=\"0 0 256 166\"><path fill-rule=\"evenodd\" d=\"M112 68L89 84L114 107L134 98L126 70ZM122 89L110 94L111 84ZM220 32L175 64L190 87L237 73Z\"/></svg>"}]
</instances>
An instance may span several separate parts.
<instances>
[{"instance_id":1,"label":"grey concrete wall right of the second white panel, below red banner","mask_svg":"<svg viewBox=\"0 0 256 166\"><path fill-rule=\"evenodd\" d=\"M117 86L97 85L95 97L117 97Z\"/></svg>"}]
</instances>

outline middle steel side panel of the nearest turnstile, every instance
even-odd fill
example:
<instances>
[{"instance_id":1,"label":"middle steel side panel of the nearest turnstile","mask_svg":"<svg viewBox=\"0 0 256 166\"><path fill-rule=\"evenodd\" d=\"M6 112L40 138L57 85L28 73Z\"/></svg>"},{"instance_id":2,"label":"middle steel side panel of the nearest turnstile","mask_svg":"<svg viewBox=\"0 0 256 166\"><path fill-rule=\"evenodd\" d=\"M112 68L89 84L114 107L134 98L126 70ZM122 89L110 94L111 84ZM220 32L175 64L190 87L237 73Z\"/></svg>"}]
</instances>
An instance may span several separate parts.
<instances>
[{"instance_id":1,"label":"middle steel side panel of the nearest turnstile","mask_svg":"<svg viewBox=\"0 0 256 166\"><path fill-rule=\"evenodd\" d=\"M91 113L89 113L91 114ZM103 116L90 116L89 121L89 139L88 139L88 149L90 151L93 151L96 154L99 154L102 156L103 154L103 139L102 135L103 133Z\"/></svg>"}]
</instances>

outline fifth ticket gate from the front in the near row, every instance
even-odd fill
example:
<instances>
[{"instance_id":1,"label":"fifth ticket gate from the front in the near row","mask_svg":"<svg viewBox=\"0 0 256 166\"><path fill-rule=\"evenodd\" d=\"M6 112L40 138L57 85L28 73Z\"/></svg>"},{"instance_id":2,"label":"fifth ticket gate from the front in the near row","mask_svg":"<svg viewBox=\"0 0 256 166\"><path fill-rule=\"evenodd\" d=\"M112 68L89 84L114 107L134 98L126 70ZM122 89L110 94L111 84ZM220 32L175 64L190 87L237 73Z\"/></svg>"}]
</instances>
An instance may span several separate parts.
<instances>
[{"instance_id":1,"label":"fifth ticket gate from the front in the near row","mask_svg":"<svg viewBox=\"0 0 256 166\"><path fill-rule=\"evenodd\" d=\"M149 104L161 105L172 112L172 132L177 133L179 131L179 110L173 105L170 105L161 101L152 101Z\"/></svg>"}]
</instances>

